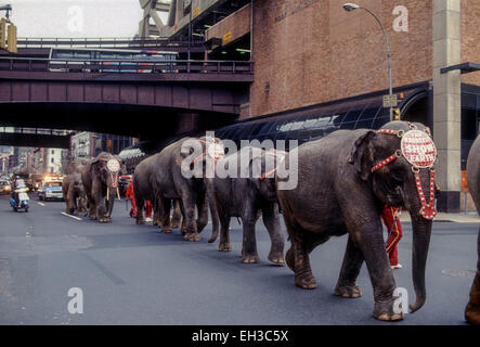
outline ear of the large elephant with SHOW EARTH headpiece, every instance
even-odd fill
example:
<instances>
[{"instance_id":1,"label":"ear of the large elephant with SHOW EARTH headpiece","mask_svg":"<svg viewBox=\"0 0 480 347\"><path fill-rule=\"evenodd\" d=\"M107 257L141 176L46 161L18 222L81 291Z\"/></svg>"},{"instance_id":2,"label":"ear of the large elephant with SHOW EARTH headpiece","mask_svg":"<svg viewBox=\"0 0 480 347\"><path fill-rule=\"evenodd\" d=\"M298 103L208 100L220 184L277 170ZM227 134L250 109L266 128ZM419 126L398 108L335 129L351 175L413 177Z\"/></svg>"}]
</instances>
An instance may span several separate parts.
<instances>
[{"instance_id":1,"label":"ear of the large elephant with SHOW EARTH headpiece","mask_svg":"<svg viewBox=\"0 0 480 347\"><path fill-rule=\"evenodd\" d=\"M372 139L375 136L375 131L368 130L358 138L349 158L349 163L353 165L356 172L360 175L360 178L364 181L368 179L374 164L374 147Z\"/></svg>"}]
</instances>

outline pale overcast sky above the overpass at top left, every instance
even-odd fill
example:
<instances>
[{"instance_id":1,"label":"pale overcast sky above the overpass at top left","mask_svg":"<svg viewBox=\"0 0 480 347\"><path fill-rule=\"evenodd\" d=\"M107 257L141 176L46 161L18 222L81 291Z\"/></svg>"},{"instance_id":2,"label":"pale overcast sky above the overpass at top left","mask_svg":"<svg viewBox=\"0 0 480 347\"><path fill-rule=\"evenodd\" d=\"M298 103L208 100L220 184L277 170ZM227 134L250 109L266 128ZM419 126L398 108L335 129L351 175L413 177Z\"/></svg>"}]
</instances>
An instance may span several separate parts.
<instances>
[{"instance_id":1,"label":"pale overcast sky above the overpass at top left","mask_svg":"<svg viewBox=\"0 0 480 347\"><path fill-rule=\"evenodd\" d=\"M7 3L17 37L133 37L142 18L139 0L0 0Z\"/></svg>"}]
</instances>

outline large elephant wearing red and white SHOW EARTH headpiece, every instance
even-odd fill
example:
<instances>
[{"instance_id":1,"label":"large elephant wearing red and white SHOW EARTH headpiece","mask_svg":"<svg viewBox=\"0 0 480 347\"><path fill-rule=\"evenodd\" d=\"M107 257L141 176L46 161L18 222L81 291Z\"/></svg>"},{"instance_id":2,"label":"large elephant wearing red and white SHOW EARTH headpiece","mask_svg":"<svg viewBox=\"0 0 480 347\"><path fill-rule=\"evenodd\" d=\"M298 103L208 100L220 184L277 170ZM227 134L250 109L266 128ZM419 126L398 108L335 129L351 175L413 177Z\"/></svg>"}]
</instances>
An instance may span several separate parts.
<instances>
[{"instance_id":1,"label":"large elephant wearing red and white SHOW EARTH headpiece","mask_svg":"<svg viewBox=\"0 0 480 347\"><path fill-rule=\"evenodd\" d=\"M415 152L415 139L425 143L420 149L425 155ZM291 242L286 262L295 272L295 284L306 290L316 287L309 254L330 236L348 234L335 294L347 298L361 296L356 278L365 261L374 288L373 316L386 321L403 319L403 308L393 307L395 281L385 249L380 215L385 205L404 207L413 227L416 301L410 308L412 312L418 310L426 300L426 261L437 214L437 149L429 129L421 124L394 120L377 131L338 130L301 144L295 154L298 183L290 190L277 190ZM285 163L295 166L291 150ZM285 178L276 180L278 184Z\"/></svg>"}]
</instances>

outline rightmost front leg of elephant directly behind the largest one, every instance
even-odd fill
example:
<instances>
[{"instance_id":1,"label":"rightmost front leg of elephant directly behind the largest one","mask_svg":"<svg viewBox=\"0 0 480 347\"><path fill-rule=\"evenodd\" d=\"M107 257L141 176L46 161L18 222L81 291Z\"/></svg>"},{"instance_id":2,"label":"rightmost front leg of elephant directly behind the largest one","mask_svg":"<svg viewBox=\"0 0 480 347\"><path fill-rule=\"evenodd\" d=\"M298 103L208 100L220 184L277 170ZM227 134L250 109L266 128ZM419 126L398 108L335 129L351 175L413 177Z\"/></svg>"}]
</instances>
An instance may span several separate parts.
<instances>
[{"instance_id":1,"label":"rightmost front leg of elephant directly behind the largest one","mask_svg":"<svg viewBox=\"0 0 480 347\"><path fill-rule=\"evenodd\" d=\"M275 264L285 264L283 250L285 247L285 239L281 232L278 219L278 205L268 204L262 209L263 224L269 231L271 247L269 253L269 260Z\"/></svg>"}]
</instances>

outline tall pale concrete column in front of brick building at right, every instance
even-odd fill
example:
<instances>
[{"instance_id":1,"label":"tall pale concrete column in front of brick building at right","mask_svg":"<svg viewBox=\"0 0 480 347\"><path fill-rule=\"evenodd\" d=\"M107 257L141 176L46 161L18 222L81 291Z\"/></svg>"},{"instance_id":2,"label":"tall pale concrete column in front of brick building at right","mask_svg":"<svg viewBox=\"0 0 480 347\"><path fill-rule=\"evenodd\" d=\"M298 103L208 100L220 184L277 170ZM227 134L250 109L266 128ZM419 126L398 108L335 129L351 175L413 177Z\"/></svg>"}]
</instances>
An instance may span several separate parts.
<instances>
[{"instance_id":1,"label":"tall pale concrete column in front of brick building at right","mask_svg":"<svg viewBox=\"0 0 480 347\"><path fill-rule=\"evenodd\" d=\"M433 139L438 149L437 182L440 211L459 211L460 200L460 73L440 68L460 63L460 1L434 0Z\"/></svg>"}]
</instances>

